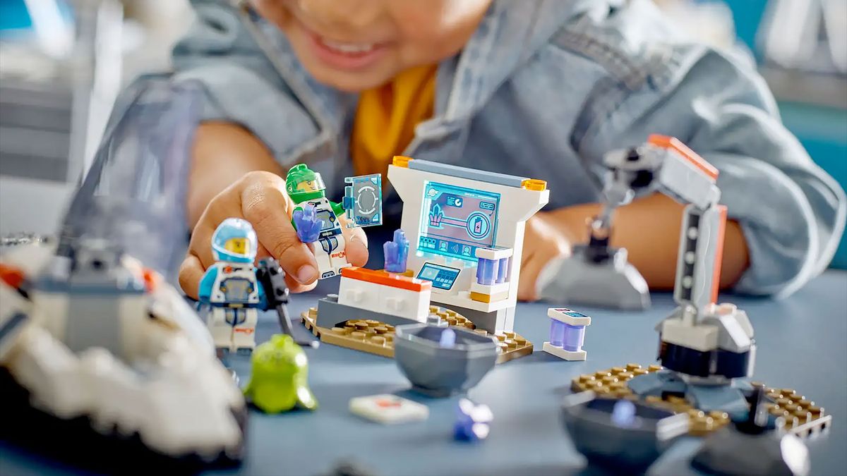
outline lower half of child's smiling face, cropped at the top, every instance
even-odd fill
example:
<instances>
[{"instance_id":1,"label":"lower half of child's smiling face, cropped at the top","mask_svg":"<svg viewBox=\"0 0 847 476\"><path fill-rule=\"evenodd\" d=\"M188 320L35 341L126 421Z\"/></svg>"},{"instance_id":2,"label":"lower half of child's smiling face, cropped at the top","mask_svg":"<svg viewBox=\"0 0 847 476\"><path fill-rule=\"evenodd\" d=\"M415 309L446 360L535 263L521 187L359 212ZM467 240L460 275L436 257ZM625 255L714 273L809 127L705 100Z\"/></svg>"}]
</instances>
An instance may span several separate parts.
<instances>
[{"instance_id":1,"label":"lower half of child's smiling face, cropped at the top","mask_svg":"<svg viewBox=\"0 0 847 476\"><path fill-rule=\"evenodd\" d=\"M345 91L436 64L473 35L491 0L253 0L313 77Z\"/></svg>"}]
</instances>

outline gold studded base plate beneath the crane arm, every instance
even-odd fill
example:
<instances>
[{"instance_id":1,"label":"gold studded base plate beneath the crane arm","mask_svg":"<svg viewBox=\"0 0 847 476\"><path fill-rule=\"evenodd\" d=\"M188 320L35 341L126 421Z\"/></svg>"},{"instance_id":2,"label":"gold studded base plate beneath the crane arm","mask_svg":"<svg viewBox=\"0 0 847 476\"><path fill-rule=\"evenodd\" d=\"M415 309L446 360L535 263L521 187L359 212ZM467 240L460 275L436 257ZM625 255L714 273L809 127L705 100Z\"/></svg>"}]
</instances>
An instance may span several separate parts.
<instances>
[{"instance_id":1,"label":"gold studded base plate beneath the crane arm","mask_svg":"<svg viewBox=\"0 0 847 476\"><path fill-rule=\"evenodd\" d=\"M612 367L598 370L594 374L583 374L571 380L571 390L574 392L591 390L599 396L612 398L628 398L637 400L632 390L629 390L627 380L636 375L649 374L662 370L661 365L641 367L637 363L628 363L626 367ZM760 382L751 382L761 385ZM775 389L767 387L767 398L772 402L766 403L768 412L783 418L783 431L800 437L828 428L832 415L824 414L822 407L817 407L814 401L806 400L794 389ZM686 412L689 415L689 434L702 436L721 429L729 423L725 412L703 412L680 396L647 396L647 403L662 407L674 413Z\"/></svg>"}]
</instances>

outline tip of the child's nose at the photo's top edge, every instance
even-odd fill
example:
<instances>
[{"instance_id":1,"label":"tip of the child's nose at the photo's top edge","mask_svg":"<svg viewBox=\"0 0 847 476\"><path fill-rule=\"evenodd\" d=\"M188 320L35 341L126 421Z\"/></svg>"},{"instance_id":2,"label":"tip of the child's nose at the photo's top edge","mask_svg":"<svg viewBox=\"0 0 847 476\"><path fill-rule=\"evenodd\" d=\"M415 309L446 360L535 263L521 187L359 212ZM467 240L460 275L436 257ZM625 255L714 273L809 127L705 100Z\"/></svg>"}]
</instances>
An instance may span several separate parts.
<instances>
[{"instance_id":1,"label":"tip of the child's nose at the photo's top edge","mask_svg":"<svg viewBox=\"0 0 847 476\"><path fill-rule=\"evenodd\" d=\"M299 0L297 6L326 26L357 30L373 26L379 19L384 0ZM361 30L357 30L361 32Z\"/></svg>"}]
</instances>

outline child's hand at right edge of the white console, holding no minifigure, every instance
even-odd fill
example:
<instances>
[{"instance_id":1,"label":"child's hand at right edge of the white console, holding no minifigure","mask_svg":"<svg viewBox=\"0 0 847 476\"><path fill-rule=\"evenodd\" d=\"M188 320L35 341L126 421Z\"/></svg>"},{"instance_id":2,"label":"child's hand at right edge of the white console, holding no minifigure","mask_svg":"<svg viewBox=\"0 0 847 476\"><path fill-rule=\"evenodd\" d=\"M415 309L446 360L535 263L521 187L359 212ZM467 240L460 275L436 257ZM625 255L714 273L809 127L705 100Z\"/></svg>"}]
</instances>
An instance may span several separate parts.
<instances>
[{"instance_id":1,"label":"child's hand at right edge of the white console, holding no minifigure","mask_svg":"<svg viewBox=\"0 0 847 476\"><path fill-rule=\"evenodd\" d=\"M539 212L527 220L523 235L521 276L518 281L518 299L535 301L539 297L538 277L541 270L556 257L571 254L572 240L563 223L551 213Z\"/></svg>"}]
</instances>

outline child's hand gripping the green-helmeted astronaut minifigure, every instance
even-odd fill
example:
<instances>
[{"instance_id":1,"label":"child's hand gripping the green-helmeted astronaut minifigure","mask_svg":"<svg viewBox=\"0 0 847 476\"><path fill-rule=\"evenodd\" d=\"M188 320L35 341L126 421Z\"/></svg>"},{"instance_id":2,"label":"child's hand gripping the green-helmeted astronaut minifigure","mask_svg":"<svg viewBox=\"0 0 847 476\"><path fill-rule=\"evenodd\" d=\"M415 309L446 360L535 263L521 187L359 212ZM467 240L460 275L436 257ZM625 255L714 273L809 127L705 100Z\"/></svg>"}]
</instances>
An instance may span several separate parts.
<instances>
[{"instance_id":1,"label":"child's hand gripping the green-helmeted astronaut minifigure","mask_svg":"<svg viewBox=\"0 0 847 476\"><path fill-rule=\"evenodd\" d=\"M197 298L197 287L206 268L214 263L212 235L218 225L230 217L246 219L253 225L259 241L257 259L273 256L285 269L285 282L291 292L311 290L318 280L318 265L311 249L291 226L294 203L285 193L285 180L271 172L250 172L221 191L202 213L188 246L188 255L180 267L180 286L185 294ZM344 217L339 217L344 222ZM347 260L354 266L368 261L368 241L362 229L342 226L346 238Z\"/></svg>"}]
</instances>

